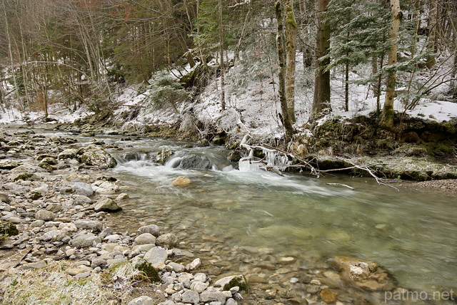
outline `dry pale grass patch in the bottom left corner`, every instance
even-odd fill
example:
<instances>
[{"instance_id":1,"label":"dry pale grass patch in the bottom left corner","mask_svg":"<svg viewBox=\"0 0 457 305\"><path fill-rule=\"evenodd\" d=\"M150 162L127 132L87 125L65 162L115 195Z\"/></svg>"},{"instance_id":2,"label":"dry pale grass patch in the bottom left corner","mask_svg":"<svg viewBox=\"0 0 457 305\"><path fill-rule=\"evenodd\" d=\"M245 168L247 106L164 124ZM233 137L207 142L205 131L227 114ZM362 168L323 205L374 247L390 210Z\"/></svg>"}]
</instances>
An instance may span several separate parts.
<instances>
[{"instance_id":1,"label":"dry pale grass patch in the bottom left corner","mask_svg":"<svg viewBox=\"0 0 457 305\"><path fill-rule=\"evenodd\" d=\"M125 262L86 279L75 279L65 270L71 262L49 262L38 270L10 269L2 274L2 304L106 304L131 299L133 284L143 279L139 270Z\"/></svg>"}]
</instances>

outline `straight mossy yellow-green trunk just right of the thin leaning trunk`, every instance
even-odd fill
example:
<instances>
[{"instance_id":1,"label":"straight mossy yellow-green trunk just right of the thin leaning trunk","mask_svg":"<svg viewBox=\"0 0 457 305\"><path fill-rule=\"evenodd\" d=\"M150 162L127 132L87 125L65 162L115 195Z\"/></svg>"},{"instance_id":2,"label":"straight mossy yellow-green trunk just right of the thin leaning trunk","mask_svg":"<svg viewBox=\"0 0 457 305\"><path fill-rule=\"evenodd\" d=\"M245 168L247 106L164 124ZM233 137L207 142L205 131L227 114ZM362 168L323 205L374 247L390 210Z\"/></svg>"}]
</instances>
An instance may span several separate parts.
<instances>
[{"instance_id":1,"label":"straight mossy yellow-green trunk just right of the thin leaning trunk","mask_svg":"<svg viewBox=\"0 0 457 305\"><path fill-rule=\"evenodd\" d=\"M286 100L288 115L292 122L295 118L295 53L297 24L293 14L293 0L285 0L285 31L286 31Z\"/></svg>"}]
</instances>

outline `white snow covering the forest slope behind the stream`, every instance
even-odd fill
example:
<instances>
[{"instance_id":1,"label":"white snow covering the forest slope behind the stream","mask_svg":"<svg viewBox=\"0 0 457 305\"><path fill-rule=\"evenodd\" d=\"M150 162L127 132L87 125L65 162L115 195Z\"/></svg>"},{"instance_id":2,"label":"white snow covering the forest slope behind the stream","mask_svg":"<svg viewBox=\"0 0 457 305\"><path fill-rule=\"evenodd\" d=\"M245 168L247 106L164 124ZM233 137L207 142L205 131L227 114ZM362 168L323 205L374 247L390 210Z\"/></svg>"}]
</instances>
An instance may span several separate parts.
<instances>
[{"instance_id":1,"label":"white snow covering the forest slope behind the stream","mask_svg":"<svg viewBox=\"0 0 457 305\"><path fill-rule=\"evenodd\" d=\"M230 73L227 73L230 80ZM363 72L361 72L363 73ZM344 83L342 77L334 74L336 78L331 83L331 100L333 113L326 117L330 119L336 116L352 118L356 115L368 115L376 110L376 98L368 91L367 86L351 83L349 90L349 111L344 111ZM360 76L351 73L351 80L357 80ZM233 118L233 128L239 120L251 135L261 135L263 138L281 138L283 127L278 113L281 113L278 103L277 80L265 75L242 74L236 76L242 79L243 86L233 89L230 81L226 85L226 108L235 109L239 115ZM226 113L221 112L220 103L220 80L214 79L205 88L196 102L186 101L177 103L176 110L172 107L151 108L148 103L149 91L141 91L140 85L119 86L114 90L114 100L119 108L115 117L125 120L124 130L144 130L145 125L176 125L179 124L187 113L191 112L204 125L221 125ZM381 107L385 96L381 96ZM308 120L313 100L312 74L298 72L296 82L296 129ZM137 107L136 107L137 106ZM403 105L399 100L395 103L396 110L403 112ZM69 108L50 105L49 118L54 118L61 123L73 123L77 118L90 114L85 108L71 112ZM139 109L139 110L138 110ZM234 113L234 112L233 112ZM457 117L457 103L423 98L418 106L406 113L413 117L419 117L438 122L451 120ZM26 118L26 116L28 118ZM26 115L18 110L0 108L0 123L26 123L26 120L39 120L44 117L43 111L30 112ZM226 130L230 132L230 130Z\"/></svg>"}]
</instances>

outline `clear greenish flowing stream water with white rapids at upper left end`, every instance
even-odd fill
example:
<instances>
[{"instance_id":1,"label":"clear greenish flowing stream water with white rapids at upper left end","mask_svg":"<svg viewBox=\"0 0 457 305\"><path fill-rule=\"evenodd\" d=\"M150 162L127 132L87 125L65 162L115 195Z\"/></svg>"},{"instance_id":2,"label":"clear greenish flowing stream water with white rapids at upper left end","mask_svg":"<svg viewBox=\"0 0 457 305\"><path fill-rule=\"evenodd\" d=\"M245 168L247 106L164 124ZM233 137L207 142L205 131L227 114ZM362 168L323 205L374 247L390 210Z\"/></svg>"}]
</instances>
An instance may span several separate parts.
<instances>
[{"instance_id":1,"label":"clear greenish flowing stream water with white rapids at upper left end","mask_svg":"<svg viewBox=\"0 0 457 305\"><path fill-rule=\"evenodd\" d=\"M124 210L131 225L178 219L170 232L184 228L189 234L229 236L228 246L270 248L278 256L303 261L339 255L371 259L388 269L400 286L411 289L457 286L453 195L398 192L363 177L239 172L226 160L226 150L217 147L185 148L187 143L166 140L118 143L131 145L111 152L119 156L170 148L176 155L205 155L216 164L214 170L181 170L145 160L120 163L114 173L134 194ZM172 186L179 175L189 177L192 184Z\"/></svg>"}]
</instances>

